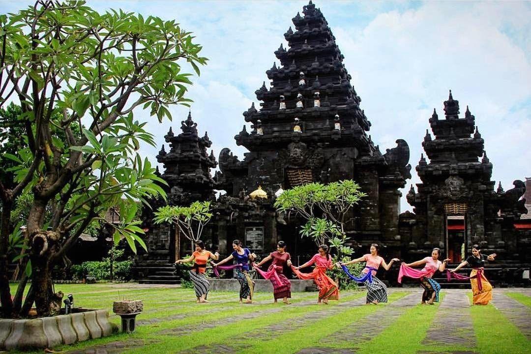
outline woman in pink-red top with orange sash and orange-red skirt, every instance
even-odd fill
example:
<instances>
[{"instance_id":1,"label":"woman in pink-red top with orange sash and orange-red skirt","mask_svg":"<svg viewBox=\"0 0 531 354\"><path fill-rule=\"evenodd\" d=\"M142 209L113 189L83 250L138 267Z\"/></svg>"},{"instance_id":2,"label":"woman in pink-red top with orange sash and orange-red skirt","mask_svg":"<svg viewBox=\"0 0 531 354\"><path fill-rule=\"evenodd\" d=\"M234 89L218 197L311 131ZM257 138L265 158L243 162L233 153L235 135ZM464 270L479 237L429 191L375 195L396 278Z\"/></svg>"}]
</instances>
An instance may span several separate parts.
<instances>
[{"instance_id":1,"label":"woman in pink-red top with orange sash and orange-red skirt","mask_svg":"<svg viewBox=\"0 0 531 354\"><path fill-rule=\"evenodd\" d=\"M311 273L301 273L299 269L305 268L315 264L315 267ZM337 284L328 277L327 269L332 269L332 256L328 254L328 246L319 246L319 253L315 254L312 259L301 266L295 267L292 265L293 272L299 279L310 280L313 279L317 287L319 288L319 297L317 303L328 304L328 300L339 300L339 289Z\"/></svg>"}]
</instances>

